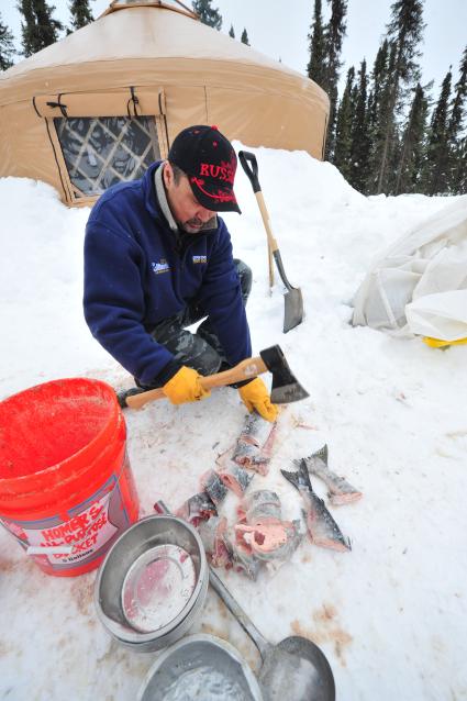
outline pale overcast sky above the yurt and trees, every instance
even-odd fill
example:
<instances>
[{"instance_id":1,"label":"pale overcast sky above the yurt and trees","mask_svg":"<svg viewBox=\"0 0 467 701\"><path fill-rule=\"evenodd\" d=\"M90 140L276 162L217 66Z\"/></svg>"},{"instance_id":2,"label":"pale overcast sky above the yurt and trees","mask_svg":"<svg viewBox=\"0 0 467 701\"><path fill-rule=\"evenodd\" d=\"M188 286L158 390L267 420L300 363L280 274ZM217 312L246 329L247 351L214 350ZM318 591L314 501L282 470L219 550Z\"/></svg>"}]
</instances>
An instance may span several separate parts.
<instances>
[{"instance_id":1,"label":"pale overcast sky above the yurt and trees","mask_svg":"<svg viewBox=\"0 0 467 701\"><path fill-rule=\"evenodd\" d=\"M110 0L91 0L94 16L108 7ZM55 15L69 24L69 0L48 0L56 5ZM190 5L190 0L185 0ZM309 59L308 33L312 23L313 0L214 0L223 18L222 30L229 32L231 23L240 38L246 27L249 43L257 51L304 73ZM348 0L347 36L344 40L343 75L352 65L358 69L367 59L371 69L381 36L390 18L392 0ZM21 15L16 0L0 0L1 18L21 37ZM323 0L323 12L327 3ZM325 19L326 15L325 15ZM454 81L458 76L462 54L467 44L467 0L425 0L424 21L427 24L422 46L423 81L435 80L434 97L449 65ZM130 38L130 37L129 37Z\"/></svg>"}]
</instances>

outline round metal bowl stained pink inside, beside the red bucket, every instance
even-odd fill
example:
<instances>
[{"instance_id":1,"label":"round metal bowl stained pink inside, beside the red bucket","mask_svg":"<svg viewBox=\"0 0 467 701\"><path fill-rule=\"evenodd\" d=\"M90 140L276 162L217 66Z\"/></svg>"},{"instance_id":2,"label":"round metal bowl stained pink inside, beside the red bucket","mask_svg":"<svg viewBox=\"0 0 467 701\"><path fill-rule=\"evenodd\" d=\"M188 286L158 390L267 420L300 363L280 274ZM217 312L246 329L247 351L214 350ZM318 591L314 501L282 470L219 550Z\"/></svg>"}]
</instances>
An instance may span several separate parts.
<instances>
[{"instance_id":1,"label":"round metal bowl stained pink inside, beside the red bucket","mask_svg":"<svg viewBox=\"0 0 467 701\"><path fill-rule=\"evenodd\" d=\"M130 526L99 568L94 605L107 631L135 652L171 645L204 605L209 570L197 531L171 515Z\"/></svg>"}]
</instances>

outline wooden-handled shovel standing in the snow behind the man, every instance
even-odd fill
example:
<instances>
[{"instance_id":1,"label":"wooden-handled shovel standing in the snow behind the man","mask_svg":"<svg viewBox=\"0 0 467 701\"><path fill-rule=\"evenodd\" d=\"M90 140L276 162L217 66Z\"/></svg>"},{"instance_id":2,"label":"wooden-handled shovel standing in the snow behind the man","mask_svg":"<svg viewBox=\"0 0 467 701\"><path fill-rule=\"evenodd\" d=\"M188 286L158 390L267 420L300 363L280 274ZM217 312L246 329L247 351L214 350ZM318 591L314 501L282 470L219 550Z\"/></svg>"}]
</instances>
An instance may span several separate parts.
<instances>
[{"instance_id":1,"label":"wooden-handled shovel standing in the snow behind the man","mask_svg":"<svg viewBox=\"0 0 467 701\"><path fill-rule=\"evenodd\" d=\"M274 237L273 230L270 227L269 214L266 209L266 203L259 185L258 164L256 160L256 156L248 151L240 151L238 158L240 163L242 164L242 168L244 169L249 179L249 182L252 183L253 192L256 196L256 200L258 202L259 211L263 218L263 223L266 229L269 254L269 287L273 287L274 285L274 270L271 264L271 256L274 256L277 269L279 270L279 275L287 288L287 292L283 297L286 305L283 313L283 333L287 333L291 329L294 329L296 326L301 324L301 322L303 321L303 298L301 289L298 287L292 287L287 279L279 246L277 245L277 241Z\"/></svg>"}]
</instances>

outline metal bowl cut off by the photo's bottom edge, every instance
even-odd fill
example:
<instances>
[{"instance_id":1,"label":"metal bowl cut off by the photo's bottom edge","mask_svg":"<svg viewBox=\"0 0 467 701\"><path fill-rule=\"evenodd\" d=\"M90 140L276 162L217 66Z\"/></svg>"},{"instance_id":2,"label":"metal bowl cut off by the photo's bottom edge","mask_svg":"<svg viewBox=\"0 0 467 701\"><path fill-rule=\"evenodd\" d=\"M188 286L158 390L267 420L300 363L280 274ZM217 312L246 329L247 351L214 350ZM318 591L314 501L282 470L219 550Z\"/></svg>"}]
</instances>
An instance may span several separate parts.
<instances>
[{"instance_id":1,"label":"metal bowl cut off by the photo's bottom edge","mask_svg":"<svg viewBox=\"0 0 467 701\"><path fill-rule=\"evenodd\" d=\"M255 675L240 653L213 635L190 635L160 653L137 701L263 701Z\"/></svg>"}]
</instances>

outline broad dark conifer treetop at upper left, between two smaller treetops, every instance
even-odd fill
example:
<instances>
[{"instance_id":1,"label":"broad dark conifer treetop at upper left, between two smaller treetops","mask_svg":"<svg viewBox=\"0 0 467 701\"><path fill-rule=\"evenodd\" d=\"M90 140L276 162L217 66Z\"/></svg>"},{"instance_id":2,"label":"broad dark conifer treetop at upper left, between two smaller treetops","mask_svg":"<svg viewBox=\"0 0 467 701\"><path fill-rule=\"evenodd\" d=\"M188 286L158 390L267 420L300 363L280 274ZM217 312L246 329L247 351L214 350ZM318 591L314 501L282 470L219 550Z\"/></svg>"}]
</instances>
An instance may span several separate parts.
<instances>
[{"instance_id":1,"label":"broad dark conifer treetop at upper left, between two smaller treetops","mask_svg":"<svg viewBox=\"0 0 467 701\"><path fill-rule=\"evenodd\" d=\"M52 16L54 5L48 5L46 0L20 0L18 9L24 16L21 23L23 56L55 44L64 25Z\"/></svg>"}]
</instances>

